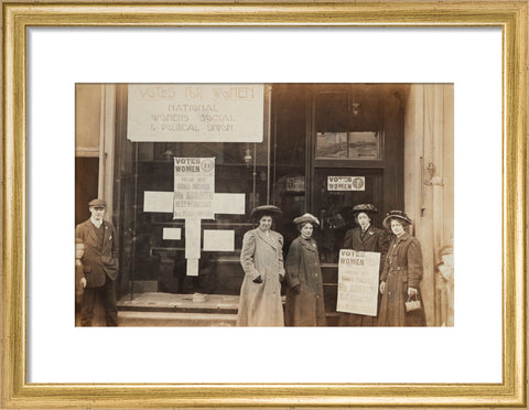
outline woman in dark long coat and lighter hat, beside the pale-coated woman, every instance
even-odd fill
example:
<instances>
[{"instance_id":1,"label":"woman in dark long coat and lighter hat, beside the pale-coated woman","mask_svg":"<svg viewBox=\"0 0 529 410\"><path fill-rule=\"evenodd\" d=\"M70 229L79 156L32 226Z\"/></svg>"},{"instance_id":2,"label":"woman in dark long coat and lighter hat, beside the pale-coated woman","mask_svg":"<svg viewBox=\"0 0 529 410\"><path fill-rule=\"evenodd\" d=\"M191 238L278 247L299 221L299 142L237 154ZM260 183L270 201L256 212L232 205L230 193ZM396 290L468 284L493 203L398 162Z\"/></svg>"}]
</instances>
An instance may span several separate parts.
<instances>
[{"instance_id":1,"label":"woman in dark long coat and lighter hat, beside the pale-coated woman","mask_svg":"<svg viewBox=\"0 0 529 410\"><path fill-rule=\"evenodd\" d=\"M316 241L312 238L317 218L304 214L294 219L301 235L287 256L287 326L325 326L323 280Z\"/></svg>"}]
</instances>

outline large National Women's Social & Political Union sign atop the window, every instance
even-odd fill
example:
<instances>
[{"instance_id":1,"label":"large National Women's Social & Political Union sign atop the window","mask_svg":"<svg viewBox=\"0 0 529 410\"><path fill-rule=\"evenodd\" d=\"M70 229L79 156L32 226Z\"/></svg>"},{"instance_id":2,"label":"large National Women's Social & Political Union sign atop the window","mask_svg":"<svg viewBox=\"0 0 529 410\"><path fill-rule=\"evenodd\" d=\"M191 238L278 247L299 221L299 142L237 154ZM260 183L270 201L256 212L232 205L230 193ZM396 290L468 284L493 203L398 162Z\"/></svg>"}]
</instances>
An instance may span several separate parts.
<instances>
[{"instance_id":1,"label":"large National Women's Social & Political Union sign atop the window","mask_svg":"<svg viewBox=\"0 0 529 410\"><path fill-rule=\"evenodd\" d=\"M128 87L131 141L262 142L262 84L134 84Z\"/></svg>"}]
</instances>

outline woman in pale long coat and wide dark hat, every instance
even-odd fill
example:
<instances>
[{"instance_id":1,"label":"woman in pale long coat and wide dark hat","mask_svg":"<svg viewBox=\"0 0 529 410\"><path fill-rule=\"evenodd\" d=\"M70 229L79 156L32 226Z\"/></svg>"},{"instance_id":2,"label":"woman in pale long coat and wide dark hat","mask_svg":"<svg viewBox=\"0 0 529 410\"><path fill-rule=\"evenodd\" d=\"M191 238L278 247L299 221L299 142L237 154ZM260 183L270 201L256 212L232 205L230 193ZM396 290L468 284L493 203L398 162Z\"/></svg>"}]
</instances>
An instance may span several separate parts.
<instances>
[{"instance_id":1,"label":"woman in pale long coat and wide dark hat","mask_svg":"<svg viewBox=\"0 0 529 410\"><path fill-rule=\"evenodd\" d=\"M281 302L283 237L271 230L272 217L280 213L277 206L262 205L250 214L259 226L242 238L240 265L245 279L240 288L237 326L284 326Z\"/></svg>"}]
</instances>

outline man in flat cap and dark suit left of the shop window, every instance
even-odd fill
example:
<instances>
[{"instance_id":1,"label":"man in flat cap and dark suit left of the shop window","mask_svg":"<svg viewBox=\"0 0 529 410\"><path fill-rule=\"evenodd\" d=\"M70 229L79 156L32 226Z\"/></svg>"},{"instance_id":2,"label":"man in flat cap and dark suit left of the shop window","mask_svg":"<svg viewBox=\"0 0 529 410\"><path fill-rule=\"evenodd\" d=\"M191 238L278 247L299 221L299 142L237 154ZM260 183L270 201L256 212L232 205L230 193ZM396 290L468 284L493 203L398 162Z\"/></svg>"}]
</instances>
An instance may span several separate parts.
<instances>
[{"instance_id":1,"label":"man in flat cap and dark suit left of the shop window","mask_svg":"<svg viewBox=\"0 0 529 410\"><path fill-rule=\"evenodd\" d=\"M91 326L96 295L99 294L107 326L118 325L115 280L118 276L118 238L114 225L104 220L107 204L102 199L88 203L90 218L75 227L76 238L85 244L83 269L86 288L80 308L80 325Z\"/></svg>"}]
</instances>

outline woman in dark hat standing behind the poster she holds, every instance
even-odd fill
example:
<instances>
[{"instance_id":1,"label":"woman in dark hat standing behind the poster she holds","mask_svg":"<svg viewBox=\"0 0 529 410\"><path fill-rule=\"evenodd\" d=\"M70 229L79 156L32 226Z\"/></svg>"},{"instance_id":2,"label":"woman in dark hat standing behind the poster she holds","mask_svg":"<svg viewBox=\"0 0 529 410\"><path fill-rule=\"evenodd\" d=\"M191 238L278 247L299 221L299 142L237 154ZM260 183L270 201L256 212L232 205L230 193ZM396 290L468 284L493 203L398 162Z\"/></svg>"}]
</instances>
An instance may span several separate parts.
<instances>
[{"instance_id":1,"label":"woman in dark hat standing behind the poster she holds","mask_svg":"<svg viewBox=\"0 0 529 410\"><path fill-rule=\"evenodd\" d=\"M353 207L353 214L358 225L345 234L344 249L353 249L360 252L379 252L379 272L381 273L384 260L389 247L389 237L384 229L376 228L371 225L371 218L378 214L378 209L371 204L359 204ZM378 298L378 310L380 309L380 299L381 298ZM341 312L339 325L375 326L377 325L377 316Z\"/></svg>"}]
</instances>

